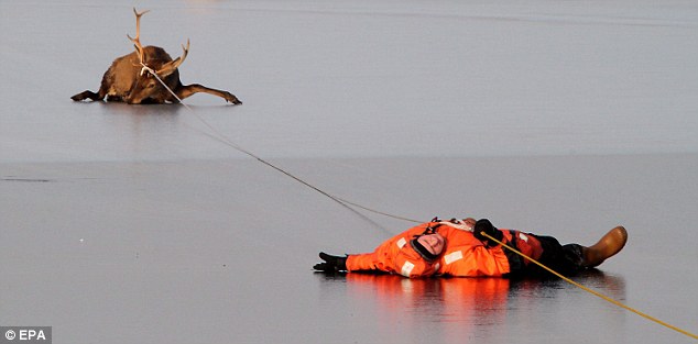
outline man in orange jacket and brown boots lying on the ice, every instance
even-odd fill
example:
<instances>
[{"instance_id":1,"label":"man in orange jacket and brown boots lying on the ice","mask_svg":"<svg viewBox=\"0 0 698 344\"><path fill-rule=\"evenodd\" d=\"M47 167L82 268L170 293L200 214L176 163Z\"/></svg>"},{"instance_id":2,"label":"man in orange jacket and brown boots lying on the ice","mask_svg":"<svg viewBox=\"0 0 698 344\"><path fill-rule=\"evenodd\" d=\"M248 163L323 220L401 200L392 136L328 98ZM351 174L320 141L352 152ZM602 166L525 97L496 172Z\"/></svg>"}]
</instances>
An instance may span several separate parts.
<instances>
[{"instance_id":1,"label":"man in orange jacket and brown boots lying on the ice","mask_svg":"<svg viewBox=\"0 0 698 344\"><path fill-rule=\"evenodd\" d=\"M499 230L492 223L472 218L452 219L414 226L378 246L372 253L331 256L314 269L335 273L388 273L410 278L455 277L543 277L547 271L521 255L488 240L481 233L511 246L548 268L569 276L592 268L620 252L628 241L623 226L609 231L592 246L560 245L552 236Z\"/></svg>"}]
</instances>

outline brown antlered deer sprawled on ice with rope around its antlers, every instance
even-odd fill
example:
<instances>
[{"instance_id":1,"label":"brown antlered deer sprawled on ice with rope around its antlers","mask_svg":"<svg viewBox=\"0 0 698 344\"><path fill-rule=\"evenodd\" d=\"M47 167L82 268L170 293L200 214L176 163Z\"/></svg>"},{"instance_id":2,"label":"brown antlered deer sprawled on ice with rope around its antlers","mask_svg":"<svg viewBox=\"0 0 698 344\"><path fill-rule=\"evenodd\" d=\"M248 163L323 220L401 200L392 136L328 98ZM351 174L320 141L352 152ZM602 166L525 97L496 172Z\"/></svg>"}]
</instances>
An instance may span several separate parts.
<instances>
[{"instance_id":1,"label":"brown antlered deer sprawled on ice with rope around its antlers","mask_svg":"<svg viewBox=\"0 0 698 344\"><path fill-rule=\"evenodd\" d=\"M135 37L131 37L129 34L127 34L127 37L133 42L135 52L113 60L102 76L99 91L86 90L70 97L70 99L74 101L86 99L97 101L103 100L106 97L107 101L121 101L129 104L162 104L165 102L178 103L182 99L194 93L204 92L220 97L232 104L242 103L238 97L228 91L208 88L198 84L182 85L177 68L189 53L189 40L187 40L186 46L182 45L184 51L182 56L175 59L172 59L162 47L152 45L144 47L140 40L141 16L148 12L138 12L133 8L133 13L135 14Z\"/></svg>"}]
</instances>

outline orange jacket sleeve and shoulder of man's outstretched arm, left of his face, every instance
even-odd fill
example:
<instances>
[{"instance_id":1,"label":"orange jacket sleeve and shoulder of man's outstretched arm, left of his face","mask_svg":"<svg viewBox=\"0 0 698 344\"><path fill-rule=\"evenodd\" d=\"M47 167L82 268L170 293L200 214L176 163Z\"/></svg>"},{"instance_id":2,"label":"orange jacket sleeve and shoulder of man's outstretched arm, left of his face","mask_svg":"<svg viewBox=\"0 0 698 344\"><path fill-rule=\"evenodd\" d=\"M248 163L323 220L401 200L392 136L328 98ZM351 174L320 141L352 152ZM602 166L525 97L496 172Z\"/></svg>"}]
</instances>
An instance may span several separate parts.
<instances>
[{"instance_id":1,"label":"orange jacket sleeve and shoulder of man's outstretched arm, left of his face","mask_svg":"<svg viewBox=\"0 0 698 344\"><path fill-rule=\"evenodd\" d=\"M415 235L421 235L434 224L433 222L423 223L402 232L382 243L373 253L350 254L347 257L347 271L381 270L410 278L436 274L439 259L427 262L410 245L410 241Z\"/></svg>"}]
</instances>

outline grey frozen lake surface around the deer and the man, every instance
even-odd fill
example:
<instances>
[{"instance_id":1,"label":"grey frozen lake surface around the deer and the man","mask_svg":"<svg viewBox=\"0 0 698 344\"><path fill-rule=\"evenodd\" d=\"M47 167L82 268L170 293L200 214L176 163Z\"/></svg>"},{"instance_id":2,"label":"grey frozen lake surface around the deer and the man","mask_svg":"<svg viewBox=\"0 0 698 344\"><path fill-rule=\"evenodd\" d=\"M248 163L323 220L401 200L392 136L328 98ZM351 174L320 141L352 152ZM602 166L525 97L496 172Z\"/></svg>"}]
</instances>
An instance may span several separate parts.
<instances>
[{"instance_id":1,"label":"grey frozen lake surface around the deer and the man","mask_svg":"<svg viewBox=\"0 0 698 344\"><path fill-rule=\"evenodd\" d=\"M0 326L54 343L694 343L564 281L314 274L412 223L629 244L575 278L698 332L698 4L143 1L182 106L75 103L133 3L0 2ZM205 121L206 123L204 123Z\"/></svg>"}]
</instances>

